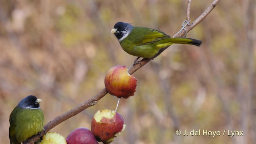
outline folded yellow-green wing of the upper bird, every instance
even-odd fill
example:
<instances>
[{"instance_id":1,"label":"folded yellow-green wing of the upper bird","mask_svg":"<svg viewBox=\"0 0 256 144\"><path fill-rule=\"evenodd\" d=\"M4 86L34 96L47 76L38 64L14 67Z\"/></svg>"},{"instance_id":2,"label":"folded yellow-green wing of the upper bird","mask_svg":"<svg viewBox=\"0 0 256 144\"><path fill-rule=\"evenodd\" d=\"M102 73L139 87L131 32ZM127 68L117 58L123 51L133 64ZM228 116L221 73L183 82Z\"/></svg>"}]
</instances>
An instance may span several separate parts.
<instances>
[{"instance_id":1,"label":"folded yellow-green wing of the upper bird","mask_svg":"<svg viewBox=\"0 0 256 144\"><path fill-rule=\"evenodd\" d=\"M158 42L159 40L164 40L166 38L170 38L170 36L166 35L164 32L159 30L155 30L152 28L148 28L148 30L144 30L144 38L141 44L152 44L154 42Z\"/></svg>"}]
</instances>

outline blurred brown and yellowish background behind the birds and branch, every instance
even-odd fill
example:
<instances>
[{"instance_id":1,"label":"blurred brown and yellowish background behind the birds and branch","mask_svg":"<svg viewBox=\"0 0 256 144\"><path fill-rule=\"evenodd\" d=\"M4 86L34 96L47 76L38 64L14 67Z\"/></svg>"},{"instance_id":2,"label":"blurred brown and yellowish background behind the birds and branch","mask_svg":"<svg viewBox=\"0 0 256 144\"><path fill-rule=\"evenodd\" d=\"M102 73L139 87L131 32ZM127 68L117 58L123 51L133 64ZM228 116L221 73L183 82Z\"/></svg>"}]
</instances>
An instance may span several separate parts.
<instances>
[{"instance_id":1,"label":"blurred brown and yellowish background behind the birds and branch","mask_svg":"<svg viewBox=\"0 0 256 144\"><path fill-rule=\"evenodd\" d=\"M211 2L192 0L191 20ZM113 144L255 142L255 5L220 0L187 35L202 40L201 47L173 45L138 70L135 96L118 107L126 129ZM0 0L1 143L9 143L9 115L25 96L43 100L47 123L100 92L109 68L133 64L136 57L110 33L116 22L173 36L186 8L187 0ZM66 137L74 128L90 129L94 113L114 110L116 102L107 94L52 131ZM199 129L201 136L182 136ZM202 130L221 136L202 136Z\"/></svg>"}]
</instances>

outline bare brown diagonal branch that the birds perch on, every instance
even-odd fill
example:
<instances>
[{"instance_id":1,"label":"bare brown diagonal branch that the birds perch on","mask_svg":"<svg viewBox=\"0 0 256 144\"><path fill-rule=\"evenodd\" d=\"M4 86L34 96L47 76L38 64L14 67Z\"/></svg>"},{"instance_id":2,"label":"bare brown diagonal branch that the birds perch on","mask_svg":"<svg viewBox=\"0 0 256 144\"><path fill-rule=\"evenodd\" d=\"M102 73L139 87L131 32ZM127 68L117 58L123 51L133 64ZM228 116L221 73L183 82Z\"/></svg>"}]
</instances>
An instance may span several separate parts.
<instances>
[{"instance_id":1,"label":"bare brown diagonal branch that the birds perch on","mask_svg":"<svg viewBox=\"0 0 256 144\"><path fill-rule=\"evenodd\" d=\"M191 0L189 0L190 2ZM212 2L212 4L189 26L186 26L186 30L187 32L189 32L190 30L192 30L192 28L194 28L197 24L199 24L202 20L204 20L204 18L206 18L206 16L215 8L216 4L218 4L219 0L214 0ZM190 8L190 6L189 6ZM187 10L190 11L190 10ZM181 37L184 36L185 32L182 31L179 34L176 35L176 37ZM166 47L168 48L168 47ZM161 52L163 52L164 50L166 50L166 48L164 48ZM161 53L160 52L160 53ZM159 54L160 54L159 53ZM158 54L158 55L159 55ZM158 56L157 55L157 56ZM156 57L156 56L155 56ZM155 58L154 57L154 58ZM142 66L144 66L146 63L148 63L150 60L152 60L152 58L144 58L140 61L140 64L135 64L133 66L131 66L128 70L128 72L130 74L133 74L134 72L136 72L138 69L140 69ZM69 110L68 112L57 116L56 118L54 118L52 121L48 122L48 124L46 124L44 126L44 130L46 132L48 132L49 130L51 130L52 128L54 128L55 126L57 126L58 124L64 122L65 120L67 120L68 118L71 118L72 116L75 116L76 114L82 112L83 110L85 110L86 108L89 108L90 106L93 106L95 104L97 104L98 100L100 100L101 98L103 98L106 94L107 94L107 90L106 88L104 88L101 92L99 92L98 94L96 94L94 97L90 98L89 100L86 100L84 103L80 104L79 106L77 106L76 108L73 108L72 110ZM40 132L40 134L43 136L45 134L44 131ZM23 144L34 144L34 142L36 140L38 140L40 138L40 135L35 135L32 136L31 138L29 138L28 140L26 140L25 142L23 142Z\"/></svg>"}]
</instances>

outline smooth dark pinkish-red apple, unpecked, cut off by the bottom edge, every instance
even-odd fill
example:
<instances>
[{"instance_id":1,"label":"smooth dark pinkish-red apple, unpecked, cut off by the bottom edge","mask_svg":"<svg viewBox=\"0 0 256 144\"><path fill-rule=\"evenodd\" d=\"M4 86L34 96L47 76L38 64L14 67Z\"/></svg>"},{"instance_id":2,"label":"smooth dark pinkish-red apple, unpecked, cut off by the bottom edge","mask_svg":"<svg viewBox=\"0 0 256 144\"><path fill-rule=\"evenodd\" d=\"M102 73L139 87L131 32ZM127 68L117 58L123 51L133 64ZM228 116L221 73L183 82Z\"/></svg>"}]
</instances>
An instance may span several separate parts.
<instances>
[{"instance_id":1,"label":"smooth dark pinkish-red apple, unpecked, cut off by the bottom edge","mask_svg":"<svg viewBox=\"0 0 256 144\"><path fill-rule=\"evenodd\" d=\"M67 144L98 144L88 128L76 128L66 138Z\"/></svg>"}]
</instances>

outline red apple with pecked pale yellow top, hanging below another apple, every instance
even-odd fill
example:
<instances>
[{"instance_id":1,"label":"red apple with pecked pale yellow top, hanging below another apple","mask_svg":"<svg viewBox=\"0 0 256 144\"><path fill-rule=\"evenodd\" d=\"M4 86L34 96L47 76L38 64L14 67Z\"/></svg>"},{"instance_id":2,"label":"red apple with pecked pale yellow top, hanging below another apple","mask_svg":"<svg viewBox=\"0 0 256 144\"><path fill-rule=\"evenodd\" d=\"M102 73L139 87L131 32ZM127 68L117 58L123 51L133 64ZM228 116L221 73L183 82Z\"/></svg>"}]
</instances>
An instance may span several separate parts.
<instances>
[{"instance_id":1,"label":"red apple with pecked pale yellow top, hanging below another apple","mask_svg":"<svg viewBox=\"0 0 256 144\"><path fill-rule=\"evenodd\" d=\"M99 110L92 119L92 133L96 140L109 144L125 128L123 117L114 110Z\"/></svg>"}]
</instances>

